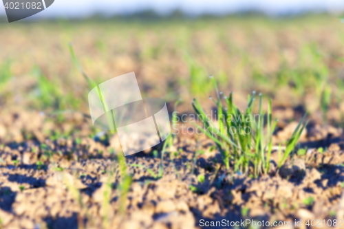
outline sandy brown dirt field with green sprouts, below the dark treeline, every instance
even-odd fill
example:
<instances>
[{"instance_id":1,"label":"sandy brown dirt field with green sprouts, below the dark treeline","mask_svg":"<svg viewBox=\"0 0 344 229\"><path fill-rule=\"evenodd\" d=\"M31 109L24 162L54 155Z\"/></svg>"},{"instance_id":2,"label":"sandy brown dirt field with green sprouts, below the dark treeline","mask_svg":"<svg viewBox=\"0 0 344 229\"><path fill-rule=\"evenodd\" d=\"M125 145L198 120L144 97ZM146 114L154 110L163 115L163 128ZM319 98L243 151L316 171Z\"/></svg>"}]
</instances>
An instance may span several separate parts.
<instances>
[{"instance_id":1,"label":"sandy brown dirt field with green sprouts, below the dark treeline","mask_svg":"<svg viewBox=\"0 0 344 229\"><path fill-rule=\"evenodd\" d=\"M343 26L327 15L0 24L1 227L344 226ZM135 72L171 120L180 100L166 149L124 157L114 131L94 129L69 43L96 83ZM194 131L195 101L263 123L248 142L214 140Z\"/></svg>"}]
</instances>

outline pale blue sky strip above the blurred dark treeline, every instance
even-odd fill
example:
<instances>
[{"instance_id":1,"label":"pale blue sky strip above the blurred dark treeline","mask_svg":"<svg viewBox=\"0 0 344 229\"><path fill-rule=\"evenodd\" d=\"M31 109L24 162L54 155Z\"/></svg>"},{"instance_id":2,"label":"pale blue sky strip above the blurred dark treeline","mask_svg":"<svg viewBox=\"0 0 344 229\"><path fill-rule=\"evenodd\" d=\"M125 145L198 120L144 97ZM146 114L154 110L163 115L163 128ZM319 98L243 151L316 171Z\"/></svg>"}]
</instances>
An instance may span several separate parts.
<instances>
[{"instance_id":1,"label":"pale blue sky strip above the blurred dark treeline","mask_svg":"<svg viewBox=\"0 0 344 229\"><path fill-rule=\"evenodd\" d=\"M259 10L266 14L304 11L343 12L344 0L55 0L47 10L34 17L87 17L102 14L129 14L153 9L166 14L179 8L189 14L228 14L243 10ZM0 15L5 14L0 7Z\"/></svg>"}]
</instances>

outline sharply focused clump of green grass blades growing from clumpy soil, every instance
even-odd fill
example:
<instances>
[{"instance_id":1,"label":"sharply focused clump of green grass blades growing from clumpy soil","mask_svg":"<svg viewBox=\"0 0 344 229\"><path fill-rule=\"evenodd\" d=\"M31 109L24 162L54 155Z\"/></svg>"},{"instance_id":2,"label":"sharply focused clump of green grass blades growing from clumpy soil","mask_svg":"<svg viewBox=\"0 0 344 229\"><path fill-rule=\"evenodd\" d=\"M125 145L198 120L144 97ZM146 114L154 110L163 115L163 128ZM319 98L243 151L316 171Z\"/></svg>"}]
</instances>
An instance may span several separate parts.
<instances>
[{"instance_id":1,"label":"sharply focused clump of green grass blades growing from clumpy soil","mask_svg":"<svg viewBox=\"0 0 344 229\"><path fill-rule=\"evenodd\" d=\"M259 94L259 113L253 114L252 109L255 102L255 91L248 96L246 110L241 113L233 103L233 93L228 97L222 96L219 92L215 78L211 76L217 99L211 98L217 107L218 126L206 116L200 102L193 100L193 109L203 124L203 128L193 123L204 134L211 138L222 155L224 165L228 170L230 162L233 162L234 170L248 175L249 165L254 165L253 174L255 177L260 173L268 173L270 168L270 154L272 151L272 134L275 131L277 120L272 122L272 102L268 102L267 124L264 131L264 116L262 95ZM224 100L224 105L222 101ZM294 150L300 135L305 128L303 124L305 116L292 133L286 145L283 157L279 160L279 167L286 162L290 153Z\"/></svg>"}]
</instances>

